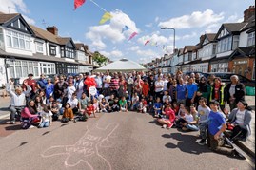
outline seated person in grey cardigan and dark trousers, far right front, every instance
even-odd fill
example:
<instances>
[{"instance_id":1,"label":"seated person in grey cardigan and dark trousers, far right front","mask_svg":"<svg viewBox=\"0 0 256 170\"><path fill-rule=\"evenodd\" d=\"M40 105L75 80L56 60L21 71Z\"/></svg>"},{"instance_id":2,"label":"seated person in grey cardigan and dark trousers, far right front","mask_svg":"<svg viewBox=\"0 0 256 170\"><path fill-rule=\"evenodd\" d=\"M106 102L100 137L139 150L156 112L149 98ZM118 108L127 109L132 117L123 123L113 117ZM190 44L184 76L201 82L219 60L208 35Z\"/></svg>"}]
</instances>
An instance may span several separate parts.
<instances>
[{"instance_id":1,"label":"seated person in grey cardigan and dark trousers, far right front","mask_svg":"<svg viewBox=\"0 0 256 170\"><path fill-rule=\"evenodd\" d=\"M227 129L231 131L231 141L246 141L247 137L251 134L250 121L251 121L251 108L248 104L241 100L231 113L228 114Z\"/></svg>"}]
</instances>

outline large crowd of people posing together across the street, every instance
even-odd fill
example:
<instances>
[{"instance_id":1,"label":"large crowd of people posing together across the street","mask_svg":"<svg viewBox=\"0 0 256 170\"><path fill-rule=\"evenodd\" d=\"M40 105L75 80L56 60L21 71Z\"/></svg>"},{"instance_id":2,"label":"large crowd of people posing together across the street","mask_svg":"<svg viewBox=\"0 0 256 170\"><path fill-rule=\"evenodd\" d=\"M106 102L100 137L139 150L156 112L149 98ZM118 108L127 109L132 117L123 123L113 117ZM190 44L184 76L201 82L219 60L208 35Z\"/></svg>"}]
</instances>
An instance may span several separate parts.
<instances>
[{"instance_id":1,"label":"large crowd of people posing together across the street","mask_svg":"<svg viewBox=\"0 0 256 170\"><path fill-rule=\"evenodd\" d=\"M91 80L95 95L89 94ZM42 74L38 81L29 74L21 86L13 87L10 81L10 123L21 121L25 129L35 124L48 127L57 120L87 121L100 112L133 111L151 114L163 128L199 131L199 144L207 143L227 155L237 153L220 145L226 129L231 131L231 141L246 141L250 135L251 109L245 101L245 85L236 75L225 84L214 75L206 78L180 70L176 74L163 74L159 69L56 75L54 80Z\"/></svg>"}]
</instances>

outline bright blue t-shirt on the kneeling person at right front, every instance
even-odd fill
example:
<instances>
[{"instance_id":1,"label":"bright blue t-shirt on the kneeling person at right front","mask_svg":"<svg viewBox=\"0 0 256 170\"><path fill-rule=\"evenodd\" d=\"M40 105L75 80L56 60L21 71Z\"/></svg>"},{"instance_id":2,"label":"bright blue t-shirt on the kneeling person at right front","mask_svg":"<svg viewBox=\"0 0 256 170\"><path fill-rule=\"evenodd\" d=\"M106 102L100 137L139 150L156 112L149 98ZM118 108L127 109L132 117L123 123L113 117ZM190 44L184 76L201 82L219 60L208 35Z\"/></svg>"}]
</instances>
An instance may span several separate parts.
<instances>
[{"instance_id":1,"label":"bright blue t-shirt on the kneeling person at right front","mask_svg":"<svg viewBox=\"0 0 256 170\"><path fill-rule=\"evenodd\" d=\"M221 112L209 112L209 123L208 123L208 130L211 135L215 135L221 128L225 121L225 117Z\"/></svg>"}]
</instances>

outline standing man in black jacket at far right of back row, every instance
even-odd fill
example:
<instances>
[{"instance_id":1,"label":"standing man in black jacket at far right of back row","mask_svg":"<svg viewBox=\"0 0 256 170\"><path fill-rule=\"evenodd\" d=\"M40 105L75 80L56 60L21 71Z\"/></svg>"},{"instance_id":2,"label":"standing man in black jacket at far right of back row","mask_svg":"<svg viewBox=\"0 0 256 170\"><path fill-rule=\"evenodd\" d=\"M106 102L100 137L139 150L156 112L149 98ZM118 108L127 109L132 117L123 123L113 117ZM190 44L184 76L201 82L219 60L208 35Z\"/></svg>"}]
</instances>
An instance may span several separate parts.
<instances>
[{"instance_id":1,"label":"standing man in black jacket at far right of back row","mask_svg":"<svg viewBox=\"0 0 256 170\"><path fill-rule=\"evenodd\" d=\"M231 82L225 87L226 102L229 104L230 111L237 107L239 101L245 101L245 85L239 82L237 75L232 75Z\"/></svg>"}]
</instances>

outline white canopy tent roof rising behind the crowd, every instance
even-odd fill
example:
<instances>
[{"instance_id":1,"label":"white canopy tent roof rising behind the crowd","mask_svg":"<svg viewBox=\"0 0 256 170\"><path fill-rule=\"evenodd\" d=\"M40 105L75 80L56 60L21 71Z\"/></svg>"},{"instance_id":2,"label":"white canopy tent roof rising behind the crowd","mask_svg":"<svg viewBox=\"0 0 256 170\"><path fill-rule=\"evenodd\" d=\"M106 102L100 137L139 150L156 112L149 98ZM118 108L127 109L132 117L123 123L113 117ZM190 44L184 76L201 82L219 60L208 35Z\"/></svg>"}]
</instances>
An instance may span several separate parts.
<instances>
[{"instance_id":1,"label":"white canopy tent roof rising behind the crowd","mask_svg":"<svg viewBox=\"0 0 256 170\"><path fill-rule=\"evenodd\" d=\"M115 61L106 66L102 66L98 69L95 69L94 72L104 72L109 70L109 72L114 71L122 71L122 72L130 72L130 71L147 71L147 68L141 66L138 63L132 62L128 59L121 59L119 61Z\"/></svg>"}]
</instances>

